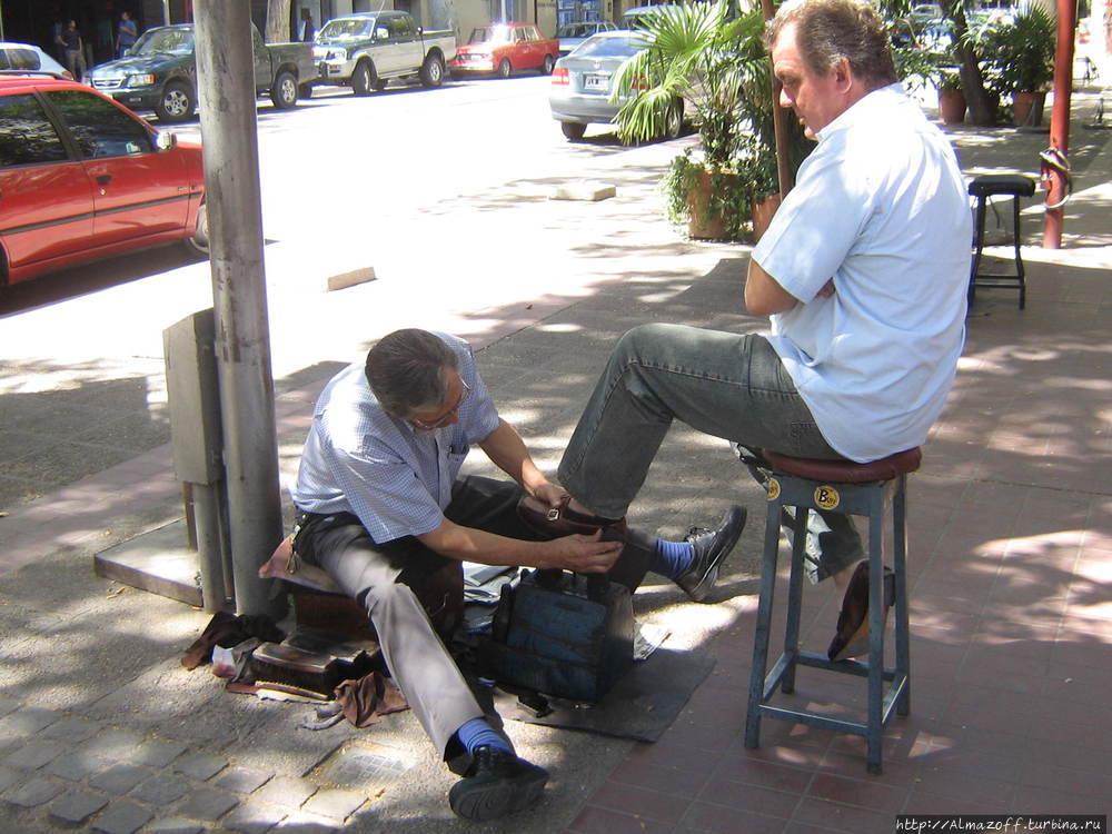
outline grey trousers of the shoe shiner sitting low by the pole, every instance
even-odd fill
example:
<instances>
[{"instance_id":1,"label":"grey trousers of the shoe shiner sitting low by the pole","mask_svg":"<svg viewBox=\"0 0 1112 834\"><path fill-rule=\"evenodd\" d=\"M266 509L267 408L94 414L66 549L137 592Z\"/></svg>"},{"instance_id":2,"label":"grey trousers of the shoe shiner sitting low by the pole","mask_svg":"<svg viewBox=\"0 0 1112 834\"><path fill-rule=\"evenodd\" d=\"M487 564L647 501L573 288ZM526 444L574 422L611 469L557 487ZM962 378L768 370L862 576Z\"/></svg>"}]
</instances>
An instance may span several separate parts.
<instances>
[{"instance_id":1,"label":"grey trousers of the shoe shiner sitting low by the pole","mask_svg":"<svg viewBox=\"0 0 1112 834\"><path fill-rule=\"evenodd\" d=\"M467 477L453 486L445 516L456 524L510 538L544 538L517 515L523 492L512 481ZM416 590L445 566L463 566L425 547L417 538L377 545L350 513L305 514L294 540L297 554L324 568L346 594L366 607L378 633L386 666L414 715L445 759L464 751L454 739L459 727L484 713L459 667L437 636ZM629 532L610 579L636 589L645 576L655 539ZM444 600L445 605L459 600ZM436 614L436 612L430 612Z\"/></svg>"}]
</instances>

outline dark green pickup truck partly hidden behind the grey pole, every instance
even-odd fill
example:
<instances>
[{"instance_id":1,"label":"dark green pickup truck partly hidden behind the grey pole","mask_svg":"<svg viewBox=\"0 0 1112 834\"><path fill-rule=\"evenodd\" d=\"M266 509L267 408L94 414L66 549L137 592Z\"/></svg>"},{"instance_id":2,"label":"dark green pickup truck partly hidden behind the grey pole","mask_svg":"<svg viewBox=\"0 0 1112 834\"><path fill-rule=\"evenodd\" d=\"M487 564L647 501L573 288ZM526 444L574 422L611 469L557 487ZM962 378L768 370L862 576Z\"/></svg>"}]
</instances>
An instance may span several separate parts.
<instances>
[{"instance_id":1,"label":"dark green pickup truck partly hidden behind the grey pole","mask_svg":"<svg viewBox=\"0 0 1112 834\"><path fill-rule=\"evenodd\" d=\"M287 109L311 92L317 64L311 43L255 43L255 91L269 92L274 106ZM143 32L123 58L89 70L86 81L132 110L153 110L159 121L189 119L197 108L197 60L193 24L161 26Z\"/></svg>"}]
</instances>

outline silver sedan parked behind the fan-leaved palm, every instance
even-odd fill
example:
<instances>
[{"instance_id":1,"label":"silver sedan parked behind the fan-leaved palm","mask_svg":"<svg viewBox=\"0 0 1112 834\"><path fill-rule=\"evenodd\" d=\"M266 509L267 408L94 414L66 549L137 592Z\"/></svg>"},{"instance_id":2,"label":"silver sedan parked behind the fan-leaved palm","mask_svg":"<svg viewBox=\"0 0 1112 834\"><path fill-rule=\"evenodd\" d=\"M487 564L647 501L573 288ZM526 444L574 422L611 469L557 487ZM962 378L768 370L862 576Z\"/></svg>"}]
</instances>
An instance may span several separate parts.
<instances>
[{"instance_id":1,"label":"silver sedan parked behind the fan-leaved palm","mask_svg":"<svg viewBox=\"0 0 1112 834\"><path fill-rule=\"evenodd\" d=\"M548 105L553 118L570 141L583 139L587 125L609 125L626 102L612 100L614 76L624 61L645 48L645 33L628 29L593 34L553 70ZM683 130L684 103L677 99L668 111L665 137Z\"/></svg>"}]
</instances>

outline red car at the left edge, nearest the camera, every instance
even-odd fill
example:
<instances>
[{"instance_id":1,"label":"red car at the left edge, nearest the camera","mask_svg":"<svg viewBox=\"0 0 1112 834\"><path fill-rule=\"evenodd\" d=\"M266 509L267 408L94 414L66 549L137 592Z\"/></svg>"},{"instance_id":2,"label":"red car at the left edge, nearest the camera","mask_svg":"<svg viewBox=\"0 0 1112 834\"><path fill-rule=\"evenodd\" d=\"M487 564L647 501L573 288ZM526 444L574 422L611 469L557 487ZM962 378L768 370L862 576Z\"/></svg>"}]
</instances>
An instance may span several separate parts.
<instances>
[{"instance_id":1,"label":"red car at the left edge, nearest the camera","mask_svg":"<svg viewBox=\"0 0 1112 834\"><path fill-rule=\"evenodd\" d=\"M0 285L176 240L208 249L199 145L76 81L0 78Z\"/></svg>"}]
</instances>

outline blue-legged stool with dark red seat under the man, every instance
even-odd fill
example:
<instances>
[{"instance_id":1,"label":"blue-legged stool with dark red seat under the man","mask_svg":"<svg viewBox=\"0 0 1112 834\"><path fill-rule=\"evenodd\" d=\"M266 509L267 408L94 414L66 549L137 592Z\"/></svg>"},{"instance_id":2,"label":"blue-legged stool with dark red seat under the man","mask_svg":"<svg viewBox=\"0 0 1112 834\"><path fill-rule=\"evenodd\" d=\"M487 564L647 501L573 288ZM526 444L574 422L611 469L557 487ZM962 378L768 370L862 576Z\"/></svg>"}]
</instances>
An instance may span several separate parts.
<instances>
[{"instance_id":1,"label":"blue-legged stool with dark red seat under the man","mask_svg":"<svg viewBox=\"0 0 1112 834\"><path fill-rule=\"evenodd\" d=\"M842 460L792 458L772 451L761 453L757 460L743 460L761 470L768 493L765 518L764 566L761 572L761 598L757 606L756 635L753 645L753 669L749 677L748 712L745 719L745 746L757 747L761 718L781 718L816 727L864 736L867 741L868 772L881 772L881 733L892 715L911 709L911 657L907 627L906 586L906 476L919 468L919 448L897 455L855 464ZM884 514L892 506L892 528L895 539L894 613L895 667L884 667L883 610L883 542ZM768 639L772 631L772 606L776 586L776 559L785 507L795 507L791 522L792 574L787 592L787 623L784 653L772 671L768 665ZM868 662L827 659L825 654L800 649L800 609L803 597L803 572L806 546L807 515L814 509L837 510L868 518ZM791 694L795 688L797 665L813 666L867 678L865 723L832 718L804 709L775 705L772 697L778 688ZM891 682L884 692L884 682Z\"/></svg>"}]
</instances>

